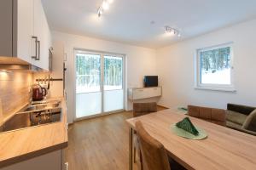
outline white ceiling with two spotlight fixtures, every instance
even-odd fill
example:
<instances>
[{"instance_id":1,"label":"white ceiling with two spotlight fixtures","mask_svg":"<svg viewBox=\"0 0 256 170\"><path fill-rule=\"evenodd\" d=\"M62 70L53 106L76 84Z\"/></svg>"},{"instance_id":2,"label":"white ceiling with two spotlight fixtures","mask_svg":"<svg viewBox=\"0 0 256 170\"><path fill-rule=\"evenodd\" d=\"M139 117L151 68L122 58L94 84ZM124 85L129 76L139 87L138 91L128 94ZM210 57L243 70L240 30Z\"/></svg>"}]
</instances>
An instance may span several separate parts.
<instances>
[{"instance_id":1,"label":"white ceiling with two spotlight fixtures","mask_svg":"<svg viewBox=\"0 0 256 170\"><path fill-rule=\"evenodd\" d=\"M256 17L256 0L114 0L101 18L96 11L102 0L42 2L52 30L148 48ZM177 28L182 37L166 36L164 26Z\"/></svg>"}]
</instances>

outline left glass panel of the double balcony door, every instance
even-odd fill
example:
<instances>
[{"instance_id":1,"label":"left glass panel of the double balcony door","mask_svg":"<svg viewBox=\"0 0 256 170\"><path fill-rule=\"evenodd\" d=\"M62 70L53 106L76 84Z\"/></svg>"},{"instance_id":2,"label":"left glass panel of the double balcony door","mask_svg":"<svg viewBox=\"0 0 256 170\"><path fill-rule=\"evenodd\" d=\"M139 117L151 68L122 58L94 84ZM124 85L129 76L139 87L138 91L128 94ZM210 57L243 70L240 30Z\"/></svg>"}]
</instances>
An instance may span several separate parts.
<instances>
[{"instance_id":1,"label":"left glass panel of the double balcony door","mask_svg":"<svg viewBox=\"0 0 256 170\"><path fill-rule=\"evenodd\" d=\"M76 54L76 118L102 112L101 54Z\"/></svg>"}]
</instances>

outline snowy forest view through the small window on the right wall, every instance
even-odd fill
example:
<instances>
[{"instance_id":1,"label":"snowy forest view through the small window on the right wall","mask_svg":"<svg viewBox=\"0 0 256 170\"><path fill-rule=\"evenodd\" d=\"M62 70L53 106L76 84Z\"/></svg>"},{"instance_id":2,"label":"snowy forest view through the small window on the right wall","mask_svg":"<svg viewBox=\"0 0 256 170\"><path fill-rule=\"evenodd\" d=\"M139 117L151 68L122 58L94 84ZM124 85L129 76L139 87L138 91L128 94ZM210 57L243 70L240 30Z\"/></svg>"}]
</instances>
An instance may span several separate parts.
<instances>
[{"instance_id":1,"label":"snowy forest view through the small window on the right wall","mask_svg":"<svg viewBox=\"0 0 256 170\"><path fill-rule=\"evenodd\" d=\"M201 84L231 84L230 47L201 53Z\"/></svg>"}]
</instances>

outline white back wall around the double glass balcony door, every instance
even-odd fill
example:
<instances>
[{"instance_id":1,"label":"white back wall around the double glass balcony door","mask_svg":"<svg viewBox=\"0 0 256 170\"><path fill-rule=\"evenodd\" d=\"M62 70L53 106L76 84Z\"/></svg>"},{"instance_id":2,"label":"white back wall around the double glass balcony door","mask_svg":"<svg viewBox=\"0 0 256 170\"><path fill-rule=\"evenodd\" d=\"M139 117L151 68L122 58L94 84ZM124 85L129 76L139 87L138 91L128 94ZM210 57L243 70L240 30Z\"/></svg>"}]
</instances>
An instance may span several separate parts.
<instances>
[{"instance_id":1,"label":"white back wall around the double glass balcony door","mask_svg":"<svg viewBox=\"0 0 256 170\"><path fill-rule=\"evenodd\" d=\"M127 99L127 88L143 87L143 76L156 75L156 58L154 49L141 48L122 44L119 42L109 42L90 37L81 37L58 31L52 31L54 42L63 42L67 53L67 112L68 122L73 122L75 112L75 67L74 67L74 48L84 48L88 50L111 52L116 54L125 54L125 74L126 89L125 99ZM125 101L125 109L131 109L131 103Z\"/></svg>"}]
</instances>

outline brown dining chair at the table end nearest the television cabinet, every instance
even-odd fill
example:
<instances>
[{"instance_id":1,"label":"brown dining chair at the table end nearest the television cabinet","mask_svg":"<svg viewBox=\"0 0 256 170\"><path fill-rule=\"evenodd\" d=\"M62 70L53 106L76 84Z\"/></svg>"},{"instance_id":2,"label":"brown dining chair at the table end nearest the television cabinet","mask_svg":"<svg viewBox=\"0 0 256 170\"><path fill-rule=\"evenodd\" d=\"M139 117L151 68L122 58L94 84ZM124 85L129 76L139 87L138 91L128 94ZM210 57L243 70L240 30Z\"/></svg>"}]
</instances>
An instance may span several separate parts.
<instances>
[{"instance_id":1,"label":"brown dining chair at the table end nearest the television cabinet","mask_svg":"<svg viewBox=\"0 0 256 170\"><path fill-rule=\"evenodd\" d=\"M149 102L149 103L133 103L133 117L147 115L152 112L157 111L156 102ZM139 156L141 169L143 170L143 160L142 154L139 148L138 139L137 139L137 132L134 132L133 135L133 150L134 150L134 162L136 162L136 153ZM136 152L137 151L137 152Z\"/></svg>"}]
</instances>

